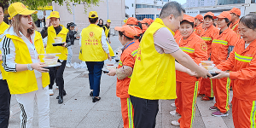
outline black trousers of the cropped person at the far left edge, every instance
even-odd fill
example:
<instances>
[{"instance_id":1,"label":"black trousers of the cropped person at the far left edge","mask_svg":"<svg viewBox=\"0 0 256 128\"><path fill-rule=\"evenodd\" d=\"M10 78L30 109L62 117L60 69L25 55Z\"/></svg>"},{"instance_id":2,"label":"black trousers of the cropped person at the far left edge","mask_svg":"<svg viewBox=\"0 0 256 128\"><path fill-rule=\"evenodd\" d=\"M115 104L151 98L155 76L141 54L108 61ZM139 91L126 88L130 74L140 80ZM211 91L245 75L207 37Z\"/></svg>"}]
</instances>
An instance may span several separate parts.
<instances>
[{"instance_id":1,"label":"black trousers of the cropped person at the far left edge","mask_svg":"<svg viewBox=\"0 0 256 128\"><path fill-rule=\"evenodd\" d=\"M9 125L10 98L6 80L0 79L0 128L7 128Z\"/></svg>"}]
</instances>

